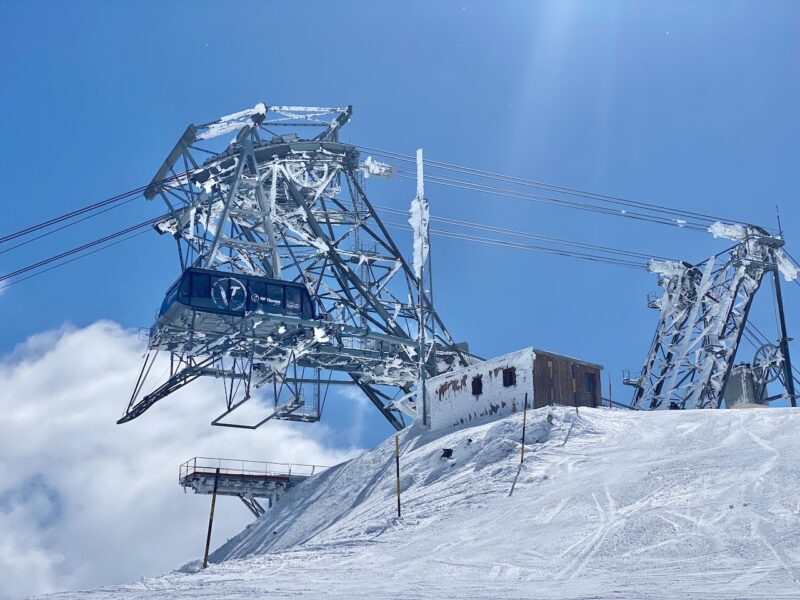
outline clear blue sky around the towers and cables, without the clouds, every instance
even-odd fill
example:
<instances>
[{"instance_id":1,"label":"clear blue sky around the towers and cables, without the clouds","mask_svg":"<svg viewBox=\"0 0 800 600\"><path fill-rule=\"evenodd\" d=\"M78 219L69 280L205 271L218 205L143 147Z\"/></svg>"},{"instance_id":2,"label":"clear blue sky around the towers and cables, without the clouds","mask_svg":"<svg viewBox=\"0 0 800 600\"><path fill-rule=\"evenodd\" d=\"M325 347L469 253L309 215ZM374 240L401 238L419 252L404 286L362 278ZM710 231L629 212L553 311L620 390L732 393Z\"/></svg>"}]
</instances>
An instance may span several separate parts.
<instances>
[{"instance_id":1,"label":"clear blue sky around the towers and cables, without the clouds","mask_svg":"<svg viewBox=\"0 0 800 600\"><path fill-rule=\"evenodd\" d=\"M352 104L347 141L635 200L768 226L780 204L800 255L796 2L6 1L0 53L0 233L140 186L187 123L264 101ZM405 207L413 189L368 192ZM724 247L473 192L427 195L438 215L693 261ZM160 210L136 201L0 254L0 271ZM654 276L453 240L436 240L433 258L438 309L475 352L578 355L629 397L619 375L644 359ZM177 270L174 244L153 233L15 286L0 296L0 350L65 322L148 327ZM795 335L798 300L792 286ZM114 401L121 411L126 399ZM346 422L348 402L329 422ZM370 414L363 445L389 433Z\"/></svg>"}]
</instances>

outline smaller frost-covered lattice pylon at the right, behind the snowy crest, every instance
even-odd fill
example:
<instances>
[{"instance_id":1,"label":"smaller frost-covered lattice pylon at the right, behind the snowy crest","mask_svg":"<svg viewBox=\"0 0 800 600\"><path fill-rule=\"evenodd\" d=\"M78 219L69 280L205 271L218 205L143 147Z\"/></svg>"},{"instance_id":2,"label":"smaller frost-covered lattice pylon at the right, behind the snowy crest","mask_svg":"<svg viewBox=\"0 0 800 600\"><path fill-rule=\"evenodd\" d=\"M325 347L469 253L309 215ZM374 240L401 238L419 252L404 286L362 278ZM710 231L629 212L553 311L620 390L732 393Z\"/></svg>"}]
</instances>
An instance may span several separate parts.
<instances>
[{"instance_id":1,"label":"smaller frost-covered lattice pylon at the right, behind the snowy crest","mask_svg":"<svg viewBox=\"0 0 800 600\"><path fill-rule=\"evenodd\" d=\"M794 379L778 273L791 280L798 269L781 249L784 242L754 225L716 222L714 237L737 241L733 249L693 265L651 261L664 288L649 305L660 311L656 334L642 372L625 383L636 389L636 408L719 408L748 326L756 292L772 274L779 332L776 344L764 343L747 368L758 389L780 379L784 397L795 405ZM764 397L764 401L774 398Z\"/></svg>"}]
</instances>

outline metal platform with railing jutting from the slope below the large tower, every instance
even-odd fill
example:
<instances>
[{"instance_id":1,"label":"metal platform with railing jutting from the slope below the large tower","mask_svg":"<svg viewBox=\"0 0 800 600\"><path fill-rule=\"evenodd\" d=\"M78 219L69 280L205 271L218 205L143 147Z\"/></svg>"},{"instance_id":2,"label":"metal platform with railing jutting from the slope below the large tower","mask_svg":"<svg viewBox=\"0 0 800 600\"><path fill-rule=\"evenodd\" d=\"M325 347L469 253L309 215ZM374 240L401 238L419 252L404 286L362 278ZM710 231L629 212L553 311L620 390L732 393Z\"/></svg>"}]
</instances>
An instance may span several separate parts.
<instances>
[{"instance_id":1,"label":"metal platform with railing jutting from the slope below the large tower","mask_svg":"<svg viewBox=\"0 0 800 600\"><path fill-rule=\"evenodd\" d=\"M265 509L257 498L266 499L269 508L286 490L327 468L196 456L179 467L178 483L195 494L213 494L217 479L217 495L236 496L259 517Z\"/></svg>"}]
</instances>

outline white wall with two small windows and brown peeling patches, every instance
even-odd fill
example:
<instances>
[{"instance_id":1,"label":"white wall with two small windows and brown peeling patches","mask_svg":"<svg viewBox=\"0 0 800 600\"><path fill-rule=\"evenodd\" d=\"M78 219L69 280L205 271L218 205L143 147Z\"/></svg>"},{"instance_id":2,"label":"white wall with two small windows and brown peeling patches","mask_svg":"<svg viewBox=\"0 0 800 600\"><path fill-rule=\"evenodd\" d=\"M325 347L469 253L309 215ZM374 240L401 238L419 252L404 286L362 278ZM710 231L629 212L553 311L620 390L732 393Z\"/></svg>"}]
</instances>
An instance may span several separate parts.
<instances>
[{"instance_id":1,"label":"white wall with two small windows and brown peeling patches","mask_svg":"<svg viewBox=\"0 0 800 600\"><path fill-rule=\"evenodd\" d=\"M441 429L509 415L522 410L525 394L533 406L532 348L504 354L470 365L427 381L428 411L431 429ZM516 384L503 387L503 369L516 369ZM481 375L483 393L472 395L472 379Z\"/></svg>"}]
</instances>

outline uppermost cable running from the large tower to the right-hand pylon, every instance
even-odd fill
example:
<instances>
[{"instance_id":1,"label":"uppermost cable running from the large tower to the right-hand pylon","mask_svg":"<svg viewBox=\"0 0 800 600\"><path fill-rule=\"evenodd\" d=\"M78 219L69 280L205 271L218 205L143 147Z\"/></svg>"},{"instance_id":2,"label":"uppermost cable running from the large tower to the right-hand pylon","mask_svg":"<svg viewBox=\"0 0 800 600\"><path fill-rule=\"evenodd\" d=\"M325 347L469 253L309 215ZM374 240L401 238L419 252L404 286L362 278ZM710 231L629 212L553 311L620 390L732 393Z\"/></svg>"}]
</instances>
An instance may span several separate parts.
<instances>
[{"instance_id":1,"label":"uppermost cable running from the large tower to the right-hand pylon","mask_svg":"<svg viewBox=\"0 0 800 600\"><path fill-rule=\"evenodd\" d=\"M385 157L393 158L393 159L396 159L396 160L402 160L402 161L411 162L411 163L416 162L416 157L414 157L414 156L410 156L410 155L406 155L406 154L400 154L398 152L392 152L390 150L382 150L380 148L372 148L370 146L357 146L357 147L362 149L362 150L367 150L369 152L373 152L373 153L378 154L380 156L385 156ZM475 169L475 168L472 168L472 167L464 167L462 165L456 165L456 164L453 164L453 163L447 163L447 162L443 162L443 161L425 159L424 164L430 165L431 167L434 167L434 168L439 168L439 169L443 169L443 170L447 170L447 171L454 171L454 172L458 172L458 173L472 175L472 176L475 176L475 177L484 177L484 178L487 178L487 179L494 179L494 180L497 180L497 181L505 181L505 182L515 183L515 184L518 184L518 185L524 185L524 186L528 186L528 187L544 189L544 190L548 190L548 191L561 192L561 193L564 193L564 194L570 194L570 195L574 195L574 196L581 196L581 197L584 197L584 198L592 198L592 199L600 200L602 202L606 202L606 203L610 203L610 204L617 204L617 205L621 205L621 206L629 206L629 207L633 207L633 208L639 208L639 209L649 210L649 211L653 211L653 212L661 212L661 213L671 214L671 215L676 215L676 216L697 218L697 219L707 220L709 222L724 221L724 222L727 222L727 223L740 223L740 221L734 221L734 220L730 220L730 219L725 219L723 217L716 217L714 215L709 215L709 214L705 214L705 213L700 213L700 212L695 212L695 211L688 211L688 210L681 210L681 209L676 209L676 208L670 208L668 206L663 206L663 205L649 203L649 202L639 202L639 201L635 201L635 200L628 200L626 198L621 198L619 196L611 196L611 195L608 195L608 194L600 194L600 193L597 193L597 192L588 192L588 191L585 191L585 190L579 190L579 189L576 189L576 188L569 188L569 187L555 185L555 184L551 184L551 183L545 183L545 182L542 182L542 181L536 181L536 180L532 180L532 179L524 179L524 178L521 178L521 177L514 177L514 176L511 176L511 175L504 175L502 173L494 173L492 171L485 171L485 170L482 170L482 169Z\"/></svg>"}]
</instances>

